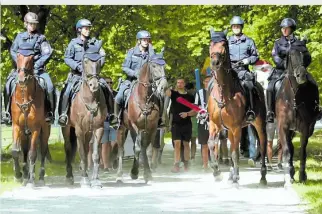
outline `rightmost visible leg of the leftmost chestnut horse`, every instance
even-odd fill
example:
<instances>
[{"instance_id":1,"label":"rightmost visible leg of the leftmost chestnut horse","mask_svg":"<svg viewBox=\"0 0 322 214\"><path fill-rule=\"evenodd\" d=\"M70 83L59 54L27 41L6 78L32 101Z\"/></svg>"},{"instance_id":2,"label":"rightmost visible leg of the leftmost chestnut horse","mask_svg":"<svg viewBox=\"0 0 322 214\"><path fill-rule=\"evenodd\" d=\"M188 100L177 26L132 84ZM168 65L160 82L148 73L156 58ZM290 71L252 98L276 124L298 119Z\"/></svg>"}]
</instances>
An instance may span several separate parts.
<instances>
[{"instance_id":1,"label":"rightmost visible leg of the leftmost chestnut horse","mask_svg":"<svg viewBox=\"0 0 322 214\"><path fill-rule=\"evenodd\" d=\"M50 135L50 126L44 124L40 130L40 152L41 152L41 165L39 171L39 184L41 186L45 185L45 160L47 157L48 150L48 139Z\"/></svg>"}]
</instances>

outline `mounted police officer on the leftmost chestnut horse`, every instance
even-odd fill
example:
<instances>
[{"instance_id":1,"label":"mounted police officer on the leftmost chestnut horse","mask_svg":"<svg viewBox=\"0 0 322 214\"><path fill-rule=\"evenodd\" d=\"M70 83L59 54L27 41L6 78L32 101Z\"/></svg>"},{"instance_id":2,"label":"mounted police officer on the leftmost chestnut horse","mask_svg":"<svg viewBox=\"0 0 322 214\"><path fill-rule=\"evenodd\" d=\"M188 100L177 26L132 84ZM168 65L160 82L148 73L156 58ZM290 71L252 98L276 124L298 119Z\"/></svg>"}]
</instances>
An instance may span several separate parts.
<instances>
[{"instance_id":1,"label":"mounted police officer on the leftmost chestnut horse","mask_svg":"<svg viewBox=\"0 0 322 214\"><path fill-rule=\"evenodd\" d=\"M48 63L50 56L53 52L46 37L37 31L38 16L35 13L29 12L24 17L24 26L27 29L26 32L19 33L15 38L11 48L10 54L12 59L17 63L17 54L28 52L34 54L34 74L38 76L42 82L45 82L46 91L46 122L53 122L55 115L55 89L50 79L49 74L45 70L45 65ZM17 76L16 70L13 70L7 78L5 90L4 90L4 101L6 105L6 112L2 115L2 122L10 125L12 123L10 116L10 103L11 94L15 85L15 79Z\"/></svg>"}]
</instances>

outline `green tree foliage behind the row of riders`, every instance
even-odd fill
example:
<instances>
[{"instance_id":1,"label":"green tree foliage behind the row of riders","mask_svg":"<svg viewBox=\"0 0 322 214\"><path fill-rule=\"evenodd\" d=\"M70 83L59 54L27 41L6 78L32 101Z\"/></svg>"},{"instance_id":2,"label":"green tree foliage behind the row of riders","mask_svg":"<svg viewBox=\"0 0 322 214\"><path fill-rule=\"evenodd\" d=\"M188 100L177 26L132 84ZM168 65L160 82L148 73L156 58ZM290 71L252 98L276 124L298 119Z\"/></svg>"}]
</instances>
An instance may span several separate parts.
<instances>
[{"instance_id":1,"label":"green tree foliage behind the row of riders","mask_svg":"<svg viewBox=\"0 0 322 214\"><path fill-rule=\"evenodd\" d=\"M107 53L104 75L116 79L122 75L121 64L126 51L135 45L140 29L151 32L157 51L165 47L168 77L194 79L193 70L201 69L208 56L209 28L229 28L234 15L244 18L244 32L252 37L262 59L271 59L275 39L281 36L279 24L285 17L298 23L299 37L307 35L313 62L309 67L319 84L322 83L322 7L321 6L2 6L1 80L13 67L9 48L18 32L24 31L23 17L36 12L39 30L54 48L47 65L53 81L61 86L69 68L63 55L69 41L75 37L75 23L80 18L93 22L92 36L104 40Z\"/></svg>"}]
</instances>

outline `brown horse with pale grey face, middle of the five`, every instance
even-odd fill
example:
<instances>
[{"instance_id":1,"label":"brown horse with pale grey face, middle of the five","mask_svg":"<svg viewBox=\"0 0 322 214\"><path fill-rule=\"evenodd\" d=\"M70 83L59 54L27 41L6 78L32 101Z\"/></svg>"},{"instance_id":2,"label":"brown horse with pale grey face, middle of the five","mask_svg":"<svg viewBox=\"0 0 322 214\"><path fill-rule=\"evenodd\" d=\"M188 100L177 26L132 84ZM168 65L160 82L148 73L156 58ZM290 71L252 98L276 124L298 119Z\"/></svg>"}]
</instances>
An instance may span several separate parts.
<instances>
[{"instance_id":1,"label":"brown horse with pale grey face, middle of the five","mask_svg":"<svg viewBox=\"0 0 322 214\"><path fill-rule=\"evenodd\" d=\"M133 87L128 101L127 111L123 111L123 123L117 131L119 166L117 171L117 182L122 182L122 157L124 153L124 142L127 131L130 130L134 144L135 157L131 170L131 178L137 179L139 174L139 156L142 150L144 165L144 180L148 182L151 169L147 157L147 148L155 142L160 111L167 87L164 71L164 60L162 56L154 55L150 61L145 63L140 71L138 82ZM156 154L156 153L155 153ZM157 155L153 158L157 162Z\"/></svg>"}]
</instances>

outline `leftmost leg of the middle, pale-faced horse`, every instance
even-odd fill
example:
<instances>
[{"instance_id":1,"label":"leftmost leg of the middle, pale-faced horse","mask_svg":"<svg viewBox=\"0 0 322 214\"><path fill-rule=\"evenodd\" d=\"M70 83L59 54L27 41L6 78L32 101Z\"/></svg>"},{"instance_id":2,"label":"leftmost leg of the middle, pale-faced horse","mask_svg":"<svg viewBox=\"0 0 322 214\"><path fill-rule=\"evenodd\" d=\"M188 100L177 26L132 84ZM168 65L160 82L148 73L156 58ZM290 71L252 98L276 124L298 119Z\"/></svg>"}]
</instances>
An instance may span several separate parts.
<instances>
[{"instance_id":1,"label":"leftmost leg of the middle, pale-faced horse","mask_svg":"<svg viewBox=\"0 0 322 214\"><path fill-rule=\"evenodd\" d=\"M125 130L124 126L121 126L117 130L117 144L118 144L118 159L119 159L119 165L116 173L116 182L117 183L123 183L123 155L124 155L124 142L125 142L125 136L127 134L127 131Z\"/></svg>"}]
</instances>

